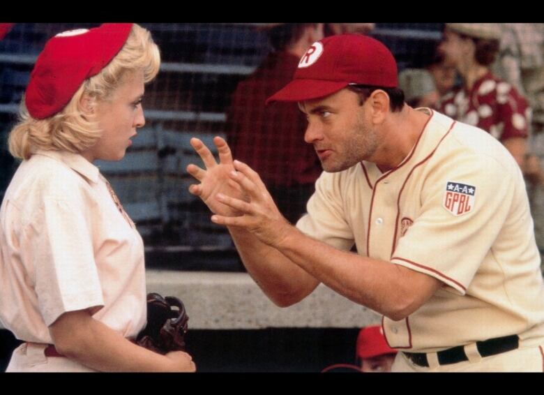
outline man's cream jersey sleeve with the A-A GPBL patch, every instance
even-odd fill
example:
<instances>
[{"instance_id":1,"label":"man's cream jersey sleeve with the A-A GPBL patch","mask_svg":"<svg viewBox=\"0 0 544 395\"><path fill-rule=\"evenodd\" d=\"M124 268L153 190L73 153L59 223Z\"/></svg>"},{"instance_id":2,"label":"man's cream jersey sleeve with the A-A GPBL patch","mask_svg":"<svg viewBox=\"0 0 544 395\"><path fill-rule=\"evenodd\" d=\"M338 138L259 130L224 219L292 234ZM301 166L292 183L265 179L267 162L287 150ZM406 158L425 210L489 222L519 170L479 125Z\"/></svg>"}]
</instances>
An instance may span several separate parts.
<instances>
[{"instance_id":1,"label":"man's cream jersey sleeve with the A-A GPBL patch","mask_svg":"<svg viewBox=\"0 0 544 395\"><path fill-rule=\"evenodd\" d=\"M493 158L461 160L442 163L426 179L421 212L399 239L391 262L464 295L506 221L515 183Z\"/></svg>"}]
</instances>

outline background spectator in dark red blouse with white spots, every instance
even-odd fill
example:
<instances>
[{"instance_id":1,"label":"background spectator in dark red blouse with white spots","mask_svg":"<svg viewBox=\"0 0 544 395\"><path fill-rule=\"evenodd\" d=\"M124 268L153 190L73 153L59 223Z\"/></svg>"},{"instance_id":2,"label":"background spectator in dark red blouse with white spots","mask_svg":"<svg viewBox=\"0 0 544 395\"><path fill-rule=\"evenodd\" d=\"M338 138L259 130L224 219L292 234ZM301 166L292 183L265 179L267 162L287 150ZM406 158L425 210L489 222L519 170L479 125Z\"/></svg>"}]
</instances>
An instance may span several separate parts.
<instances>
[{"instance_id":1,"label":"background spectator in dark red blouse with white spots","mask_svg":"<svg viewBox=\"0 0 544 395\"><path fill-rule=\"evenodd\" d=\"M500 37L499 24L446 24L439 51L446 64L455 66L463 86L441 99L440 110L448 117L491 133L522 166L530 109L512 84L490 71Z\"/></svg>"}]
</instances>

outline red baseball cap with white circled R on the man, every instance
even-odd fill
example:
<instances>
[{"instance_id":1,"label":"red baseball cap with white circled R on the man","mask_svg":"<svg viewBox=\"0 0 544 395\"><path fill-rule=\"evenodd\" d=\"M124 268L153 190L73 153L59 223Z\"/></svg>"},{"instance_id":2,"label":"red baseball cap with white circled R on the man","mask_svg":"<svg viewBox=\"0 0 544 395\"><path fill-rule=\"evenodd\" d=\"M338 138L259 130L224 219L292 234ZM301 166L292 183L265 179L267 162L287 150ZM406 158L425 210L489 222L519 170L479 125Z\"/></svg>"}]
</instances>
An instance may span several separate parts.
<instances>
[{"instance_id":1,"label":"red baseball cap with white circled R on the man","mask_svg":"<svg viewBox=\"0 0 544 395\"><path fill-rule=\"evenodd\" d=\"M308 48L292 82L269 97L266 104L320 98L349 84L397 87L393 54L375 38L361 34L324 38Z\"/></svg>"}]
</instances>

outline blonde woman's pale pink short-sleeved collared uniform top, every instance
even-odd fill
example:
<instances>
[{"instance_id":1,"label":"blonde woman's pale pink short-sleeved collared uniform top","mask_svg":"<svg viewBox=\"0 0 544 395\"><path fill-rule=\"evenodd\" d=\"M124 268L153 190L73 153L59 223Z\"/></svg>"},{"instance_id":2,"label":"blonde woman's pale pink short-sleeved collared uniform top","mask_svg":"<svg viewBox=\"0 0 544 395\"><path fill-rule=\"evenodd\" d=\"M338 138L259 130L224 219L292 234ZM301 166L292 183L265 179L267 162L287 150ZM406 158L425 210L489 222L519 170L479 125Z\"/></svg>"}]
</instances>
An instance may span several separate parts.
<instances>
[{"instance_id":1,"label":"blonde woman's pale pink short-sleeved collared uniform top","mask_svg":"<svg viewBox=\"0 0 544 395\"><path fill-rule=\"evenodd\" d=\"M82 309L128 338L144 327L144 244L108 186L66 151L15 172L0 209L0 320L18 339L52 343L48 327Z\"/></svg>"}]
</instances>

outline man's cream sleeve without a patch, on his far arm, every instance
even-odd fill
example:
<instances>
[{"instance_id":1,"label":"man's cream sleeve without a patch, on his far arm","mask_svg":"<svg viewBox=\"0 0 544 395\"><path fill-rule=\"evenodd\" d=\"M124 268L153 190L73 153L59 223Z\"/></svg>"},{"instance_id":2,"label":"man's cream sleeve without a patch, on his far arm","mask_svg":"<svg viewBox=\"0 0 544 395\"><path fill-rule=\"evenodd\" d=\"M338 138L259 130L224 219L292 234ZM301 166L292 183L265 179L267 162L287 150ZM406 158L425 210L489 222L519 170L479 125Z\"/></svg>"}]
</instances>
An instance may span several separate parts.
<instances>
[{"instance_id":1,"label":"man's cream sleeve without a patch, on his far arm","mask_svg":"<svg viewBox=\"0 0 544 395\"><path fill-rule=\"evenodd\" d=\"M315 193L308 200L308 214L296 223L296 228L314 239L348 251L354 245L354 235L346 221L338 174L323 172L317 179Z\"/></svg>"}]
</instances>

